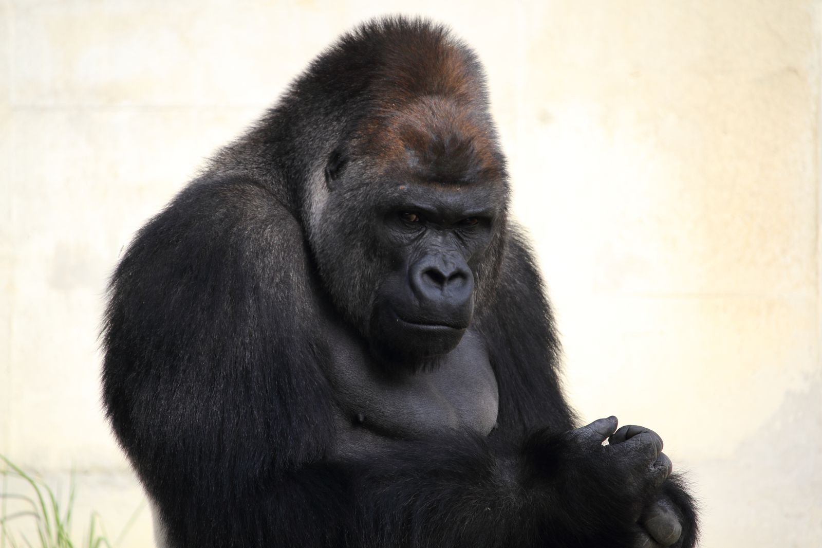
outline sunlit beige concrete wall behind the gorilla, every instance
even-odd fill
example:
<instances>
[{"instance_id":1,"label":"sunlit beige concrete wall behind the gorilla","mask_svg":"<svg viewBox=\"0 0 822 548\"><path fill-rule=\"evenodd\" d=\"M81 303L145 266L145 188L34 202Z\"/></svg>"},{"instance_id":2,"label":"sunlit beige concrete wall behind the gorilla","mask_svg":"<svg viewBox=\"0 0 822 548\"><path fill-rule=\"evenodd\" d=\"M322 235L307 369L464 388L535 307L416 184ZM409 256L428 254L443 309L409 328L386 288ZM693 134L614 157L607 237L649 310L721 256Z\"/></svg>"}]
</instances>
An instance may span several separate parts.
<instances>
[{"instance_id":1,"label":"sunlit beige concrete wall behind the gorilla","mask_svg":"<svg viewBox=\"0 0 822 548\"><path fill-rule=\"evenodd\" d=\"M413 6L413 7L412 7ZM450 23L487 67L515 213L585 420L663 434L701 546L822 546L822 3L0 2L0 453L115 532L102 419L122 246L339 32ZM148 546L141 514L123 546Z\"/></svg>"}]
</instances>

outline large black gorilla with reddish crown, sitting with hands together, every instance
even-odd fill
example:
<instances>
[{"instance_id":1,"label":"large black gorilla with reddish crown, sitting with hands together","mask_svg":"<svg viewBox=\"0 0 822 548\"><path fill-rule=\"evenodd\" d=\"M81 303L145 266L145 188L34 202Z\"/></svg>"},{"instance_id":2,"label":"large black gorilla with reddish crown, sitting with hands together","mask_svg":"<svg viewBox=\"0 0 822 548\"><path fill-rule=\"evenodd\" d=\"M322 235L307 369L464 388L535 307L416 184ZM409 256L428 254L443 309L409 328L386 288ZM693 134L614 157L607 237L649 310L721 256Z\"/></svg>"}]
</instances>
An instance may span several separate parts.
<instances>
[{"instance_id":1,"label":"large black gorilla with reddish crown, sitting with hands together","mask_svg":"<svg viewBox=\"0 0 822 548\"><path fill-rule=\"evenodd\" d=\"M103 398L163 543L695 546L657 434L575 428L509 201L478 59L392 17L143 226Z\"/></svg>"}]
</instances>

